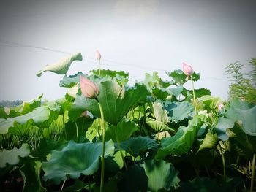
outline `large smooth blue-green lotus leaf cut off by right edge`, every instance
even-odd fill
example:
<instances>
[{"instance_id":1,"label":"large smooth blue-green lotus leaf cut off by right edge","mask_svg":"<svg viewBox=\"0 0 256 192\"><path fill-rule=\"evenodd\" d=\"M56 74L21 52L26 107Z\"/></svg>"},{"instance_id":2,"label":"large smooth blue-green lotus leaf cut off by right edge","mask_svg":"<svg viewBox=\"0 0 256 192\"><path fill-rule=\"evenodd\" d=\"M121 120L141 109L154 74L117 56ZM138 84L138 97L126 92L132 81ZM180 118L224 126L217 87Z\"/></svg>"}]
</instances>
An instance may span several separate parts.
<instances>
[{"instance_id":1,"label":"large smooth blue-green lotus leaf cut off by right edge","mask_svg":"<svg viewBox=\"0 0 256 192\"><path fill-rule=\"evenodd\" d=\"M256 106L251 107L246 101L235 100L225 113L230 120L241 120L242 129L246 134L256 136Z\"/></svg>"}]
</instances>

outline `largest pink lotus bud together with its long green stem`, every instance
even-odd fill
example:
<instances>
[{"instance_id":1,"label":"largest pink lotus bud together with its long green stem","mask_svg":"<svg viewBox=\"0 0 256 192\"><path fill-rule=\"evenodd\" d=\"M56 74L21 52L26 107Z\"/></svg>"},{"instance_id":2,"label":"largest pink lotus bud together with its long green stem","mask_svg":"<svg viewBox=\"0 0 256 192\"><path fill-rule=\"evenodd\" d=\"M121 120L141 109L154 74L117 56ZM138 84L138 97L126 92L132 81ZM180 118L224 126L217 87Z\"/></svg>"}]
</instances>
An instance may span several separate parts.
<instances>
[{"instance_id":1,"label":"largest pink lotus bud together with its long green stem","mask_svg":"<svg viewBox=\"0 0 256 192\"><path fill-rule=\"evenodd\" d=\"M99 60L100 60L100 54L99 54ZM100 71L99 71L100 72ZM104 114L102 110L102 105L99 103L97 96L99 95L99 87L94 82L86 79L85 77L80 76L80 89L86 98L89 99L96 99L97 103L99 105L99 111L100 111L100 117L101 117L101 127L102 127L102 156L101 156L101 177L100 177L100 192L103 191L104 186L104 169L105 169L105 163L104 163L104 155L105 155L105 120L104 120Z\"/></svg>"}]
</instances>

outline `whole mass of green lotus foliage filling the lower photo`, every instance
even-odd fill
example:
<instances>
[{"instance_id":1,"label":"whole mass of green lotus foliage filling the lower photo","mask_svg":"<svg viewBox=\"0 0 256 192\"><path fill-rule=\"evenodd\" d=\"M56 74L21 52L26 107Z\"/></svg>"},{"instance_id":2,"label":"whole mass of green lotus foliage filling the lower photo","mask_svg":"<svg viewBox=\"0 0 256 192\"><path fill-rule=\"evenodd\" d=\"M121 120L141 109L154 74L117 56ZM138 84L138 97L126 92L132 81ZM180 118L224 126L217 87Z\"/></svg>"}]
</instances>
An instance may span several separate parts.
<instances>
[{"instance_id":1,"label":"whole mass of green lotus foliage filling the lower photo","mask_svg":"<svg viewBox=\"0 0 256 192\"><path fill-rule=\"evenodd\" d=\"M165 81L146 74L135 85L123 71L67 76L80 59L72 55L47 68L65 74L63 98L41 95L0 107L0 185L7 191L100 191L102 180L105 191L245 191L255 181L255 59L251 77L241 64L227 69L234 80L228 102L207 88L185 88L200 75L181 70L166 72ZM81 94L80 76L99 86L96 99Z\"/></svg>"}]
</instances>

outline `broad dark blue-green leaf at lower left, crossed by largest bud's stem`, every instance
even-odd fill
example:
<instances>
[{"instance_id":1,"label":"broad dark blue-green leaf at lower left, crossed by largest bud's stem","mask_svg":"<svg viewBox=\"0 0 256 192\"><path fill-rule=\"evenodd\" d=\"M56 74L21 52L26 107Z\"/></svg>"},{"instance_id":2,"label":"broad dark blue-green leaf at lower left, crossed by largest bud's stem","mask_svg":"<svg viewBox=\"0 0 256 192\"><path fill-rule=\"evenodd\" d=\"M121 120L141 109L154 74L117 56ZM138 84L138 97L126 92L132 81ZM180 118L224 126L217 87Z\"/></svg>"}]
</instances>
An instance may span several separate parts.
<instances>
[{"instance_id":1,"label":"broad dark blue-green leaf at lower left, crossed by largest bud's stem","mask_svg":"<svg viewBox=\"0 0 256 192\"><path fill-rule=\"evenodd\" d=\"M91 175L99 169L99 157L102 153L102 142L75 143L69 144L61 151L54 150L50 160L42 163L45 172L44 180L52 180L59 184L67 177L78 179L80 174ZM105 156L113 155L114 143L105 143Z\"/></svg>"}]
</instances>

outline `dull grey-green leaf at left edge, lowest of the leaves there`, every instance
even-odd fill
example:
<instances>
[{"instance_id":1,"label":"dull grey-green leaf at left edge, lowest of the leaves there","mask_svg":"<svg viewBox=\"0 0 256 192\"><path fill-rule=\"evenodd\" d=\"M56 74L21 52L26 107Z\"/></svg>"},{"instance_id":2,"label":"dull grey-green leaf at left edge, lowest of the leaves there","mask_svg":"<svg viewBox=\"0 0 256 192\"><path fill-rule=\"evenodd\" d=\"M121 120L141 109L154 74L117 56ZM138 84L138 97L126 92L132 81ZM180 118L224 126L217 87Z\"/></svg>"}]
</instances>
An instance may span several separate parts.
<instances>
[{"instance_id":1,"label":"dull grey-green leaf at left edge, lowest of the leaves there","mask_svg":"<svg viewBox=\"0 0 256 192\"><path fill-rule=\"evenodd\" d=\"M12 150L0 150L0 168L3 168L6 166L6 164L10 165L16 165L20 161L20 157L26 157L30 154L30 148L29 145L26 143L23 143L19 149L14 147Z\"/></svg>"}]
</instances>

